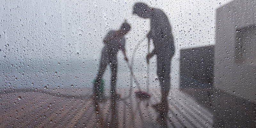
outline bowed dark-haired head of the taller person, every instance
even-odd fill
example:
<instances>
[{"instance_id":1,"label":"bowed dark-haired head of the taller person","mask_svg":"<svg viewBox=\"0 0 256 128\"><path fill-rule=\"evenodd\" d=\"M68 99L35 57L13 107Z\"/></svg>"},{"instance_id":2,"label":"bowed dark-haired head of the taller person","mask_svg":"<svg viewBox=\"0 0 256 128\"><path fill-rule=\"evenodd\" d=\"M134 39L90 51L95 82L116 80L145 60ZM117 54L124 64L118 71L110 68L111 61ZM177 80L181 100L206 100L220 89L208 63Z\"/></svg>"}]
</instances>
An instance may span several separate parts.
<instances>
[{"instance_id":1,"label":"bowed dark-haired head of the taller person","mask_svg":"<svg viewBox=\"0 0 256 128\"><path fill-rule=\"evenodd\" d=\"M151 9L145 3L135 3L133 6L133 14L141 18L149 18Z\"/></svg>"}]
</instances>

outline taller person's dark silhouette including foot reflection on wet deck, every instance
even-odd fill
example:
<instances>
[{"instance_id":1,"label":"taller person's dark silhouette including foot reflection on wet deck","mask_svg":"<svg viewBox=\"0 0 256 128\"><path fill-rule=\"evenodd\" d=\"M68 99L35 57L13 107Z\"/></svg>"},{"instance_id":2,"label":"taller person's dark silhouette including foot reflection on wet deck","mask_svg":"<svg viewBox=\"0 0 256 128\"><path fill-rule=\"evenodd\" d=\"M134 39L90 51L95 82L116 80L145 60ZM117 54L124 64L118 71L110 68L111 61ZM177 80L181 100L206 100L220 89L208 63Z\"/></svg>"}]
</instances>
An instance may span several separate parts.
<instances>
[{"instance_id":1,"label":"taller person's dark silhouette including foot reflection on wet deck","mask_svg":"<svg viewBox=\"0 0 256 128\"><path fill-rule=\"evenodd\" d=\"M170 90L170 66L174 55L174 44L172 28L167 16L160 9L148 7L144 3L136 3L133 6L133 14L141 18L150 19L150 31L147 34L148 40L153 39L155 46L151 53L148 53L147 62L154 55L157 56L157 75L161 85L161 102L153 105L160 113L161 124L166 127L167 113L169 109L167 96Z\"/></svg>"}]
</instances>

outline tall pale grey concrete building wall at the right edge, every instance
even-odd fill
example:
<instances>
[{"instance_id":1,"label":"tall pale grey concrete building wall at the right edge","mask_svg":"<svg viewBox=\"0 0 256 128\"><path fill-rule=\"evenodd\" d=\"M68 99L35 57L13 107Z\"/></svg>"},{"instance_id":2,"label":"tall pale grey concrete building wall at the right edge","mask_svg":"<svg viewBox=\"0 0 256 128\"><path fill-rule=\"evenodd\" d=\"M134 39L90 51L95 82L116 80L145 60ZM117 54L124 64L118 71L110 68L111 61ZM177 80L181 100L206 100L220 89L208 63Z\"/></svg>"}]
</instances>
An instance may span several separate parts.
<instances>
[{"instance_id":1,"label":"tall pale grey concrete building wall at the right edge","mask_svg":"<svg viewBox=\"0 0 256 128\"><path fill-rule=\"evenodd\" d=\"M252 102L256 102L256 58L253 57L256 51L256 35L250 33L256 31L255 5L256 0L235 0L217 9L214 61L215 86ZM237 43L241 40L247 40L244 43L247 47L246 55L242 55L245 60L242 61L237 57L241 56L237 53Z\"/></svg>"}]
</instances>

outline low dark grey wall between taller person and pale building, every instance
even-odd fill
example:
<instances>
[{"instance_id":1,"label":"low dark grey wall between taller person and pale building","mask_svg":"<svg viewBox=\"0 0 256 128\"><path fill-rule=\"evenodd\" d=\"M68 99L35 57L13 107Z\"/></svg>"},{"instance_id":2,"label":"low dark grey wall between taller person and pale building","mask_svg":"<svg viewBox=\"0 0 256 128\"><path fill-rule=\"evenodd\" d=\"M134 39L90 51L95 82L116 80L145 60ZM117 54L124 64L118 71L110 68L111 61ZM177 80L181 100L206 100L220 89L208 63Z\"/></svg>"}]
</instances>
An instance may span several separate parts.
<instances>
[{"instance_id":1,"label":"low dark grey wall between taller person and pale building","mask_svg":"<svg viewBox=\"0 0 256 128\"><path fill-rule=\"evenodd\" d=\"M209 87L213 84L214 46L180 50L180 87Z\"/></svg>"}]
</instances>

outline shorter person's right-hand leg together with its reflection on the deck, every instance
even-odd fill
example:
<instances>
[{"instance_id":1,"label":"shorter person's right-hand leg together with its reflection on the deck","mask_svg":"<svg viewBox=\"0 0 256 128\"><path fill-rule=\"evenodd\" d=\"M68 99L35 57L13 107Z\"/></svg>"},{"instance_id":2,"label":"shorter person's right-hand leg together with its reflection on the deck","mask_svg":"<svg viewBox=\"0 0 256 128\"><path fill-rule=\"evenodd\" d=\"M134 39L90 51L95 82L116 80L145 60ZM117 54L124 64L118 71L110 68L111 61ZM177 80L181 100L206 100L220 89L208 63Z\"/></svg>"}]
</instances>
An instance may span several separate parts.
<instances>
[{"instance_id":1,"label":"shorter person's right-hand leg together with its reflection on the deck","mask_svg":"<svg viewBox=\"0 0 256 128\"><path fill-rule=\"evenodd\" d=\"M110 94L110 109L111 109L111 127L118 127L118 111L117 111L117 94L116 94L116 73L117 73L117 59L111 61L111 94Z\"/></svg>"}]
</instances>

